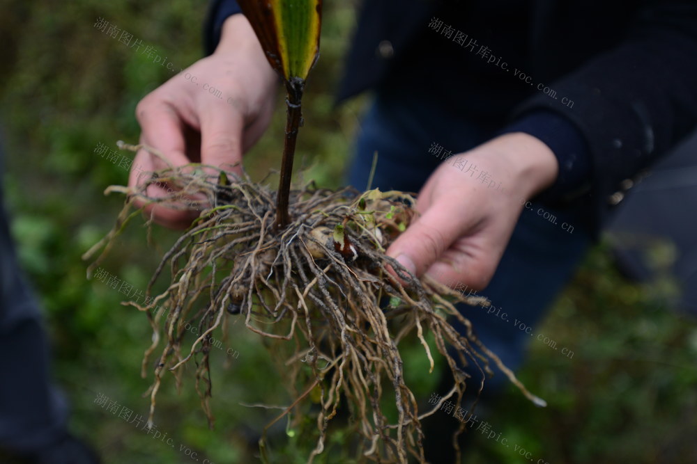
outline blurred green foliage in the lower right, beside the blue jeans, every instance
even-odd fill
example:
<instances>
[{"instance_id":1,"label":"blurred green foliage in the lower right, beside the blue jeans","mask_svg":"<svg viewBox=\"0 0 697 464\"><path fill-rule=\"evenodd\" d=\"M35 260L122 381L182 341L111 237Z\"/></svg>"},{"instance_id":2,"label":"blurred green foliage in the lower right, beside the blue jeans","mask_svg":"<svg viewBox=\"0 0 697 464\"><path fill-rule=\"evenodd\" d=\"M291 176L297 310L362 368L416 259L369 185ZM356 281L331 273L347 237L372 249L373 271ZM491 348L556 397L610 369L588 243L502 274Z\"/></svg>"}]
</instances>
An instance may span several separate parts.
<instances>
[{"instance_id":1,"label":"blurred green foliage in the lower right, beside the blue jeans","mask_svg":"<svg viewBox=\"0 0 697 464\"><path fill-rule=\"evenodd\" d=\"M473 463L695 463L697 324L665 301L673 289L627 282L607 246L589 253L536 330L520 377L549 406L509 389L487 419L508 438L473 430ZM562 354L566 348L573 355Z\"/></svg>"}]
</instances>

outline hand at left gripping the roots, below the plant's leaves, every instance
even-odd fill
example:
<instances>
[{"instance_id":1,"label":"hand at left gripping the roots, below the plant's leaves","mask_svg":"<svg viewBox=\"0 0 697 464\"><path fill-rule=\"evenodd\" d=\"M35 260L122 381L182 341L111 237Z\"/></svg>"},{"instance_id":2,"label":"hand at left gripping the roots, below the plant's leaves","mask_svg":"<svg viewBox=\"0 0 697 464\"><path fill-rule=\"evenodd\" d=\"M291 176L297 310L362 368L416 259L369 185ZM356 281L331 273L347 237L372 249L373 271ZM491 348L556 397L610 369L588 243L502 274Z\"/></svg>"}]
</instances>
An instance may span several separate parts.
<instances>
[{"instance_id":1,"label":"hand at left gripping the roots, below the plant's leaves","mask_svg":"<svg viewBox=\"0 0 697 464\"><path fill-rule=\"evenodd\" d=\"M240 174L243 153L268 126L277 83L252 26L243 15L233 15L223 25L215 53L139 102L140 143L162 152L171 166L200 161ZM144 181L139 173L167 168L167 162L139 150L128 185L136 187ZM151 184L147 194L161 198L167 192L162 184ZM197 211L141 200L136 205L145 206L146 214L167 227L187 227L198 216Z\"/></svg>"}]
</instances>

